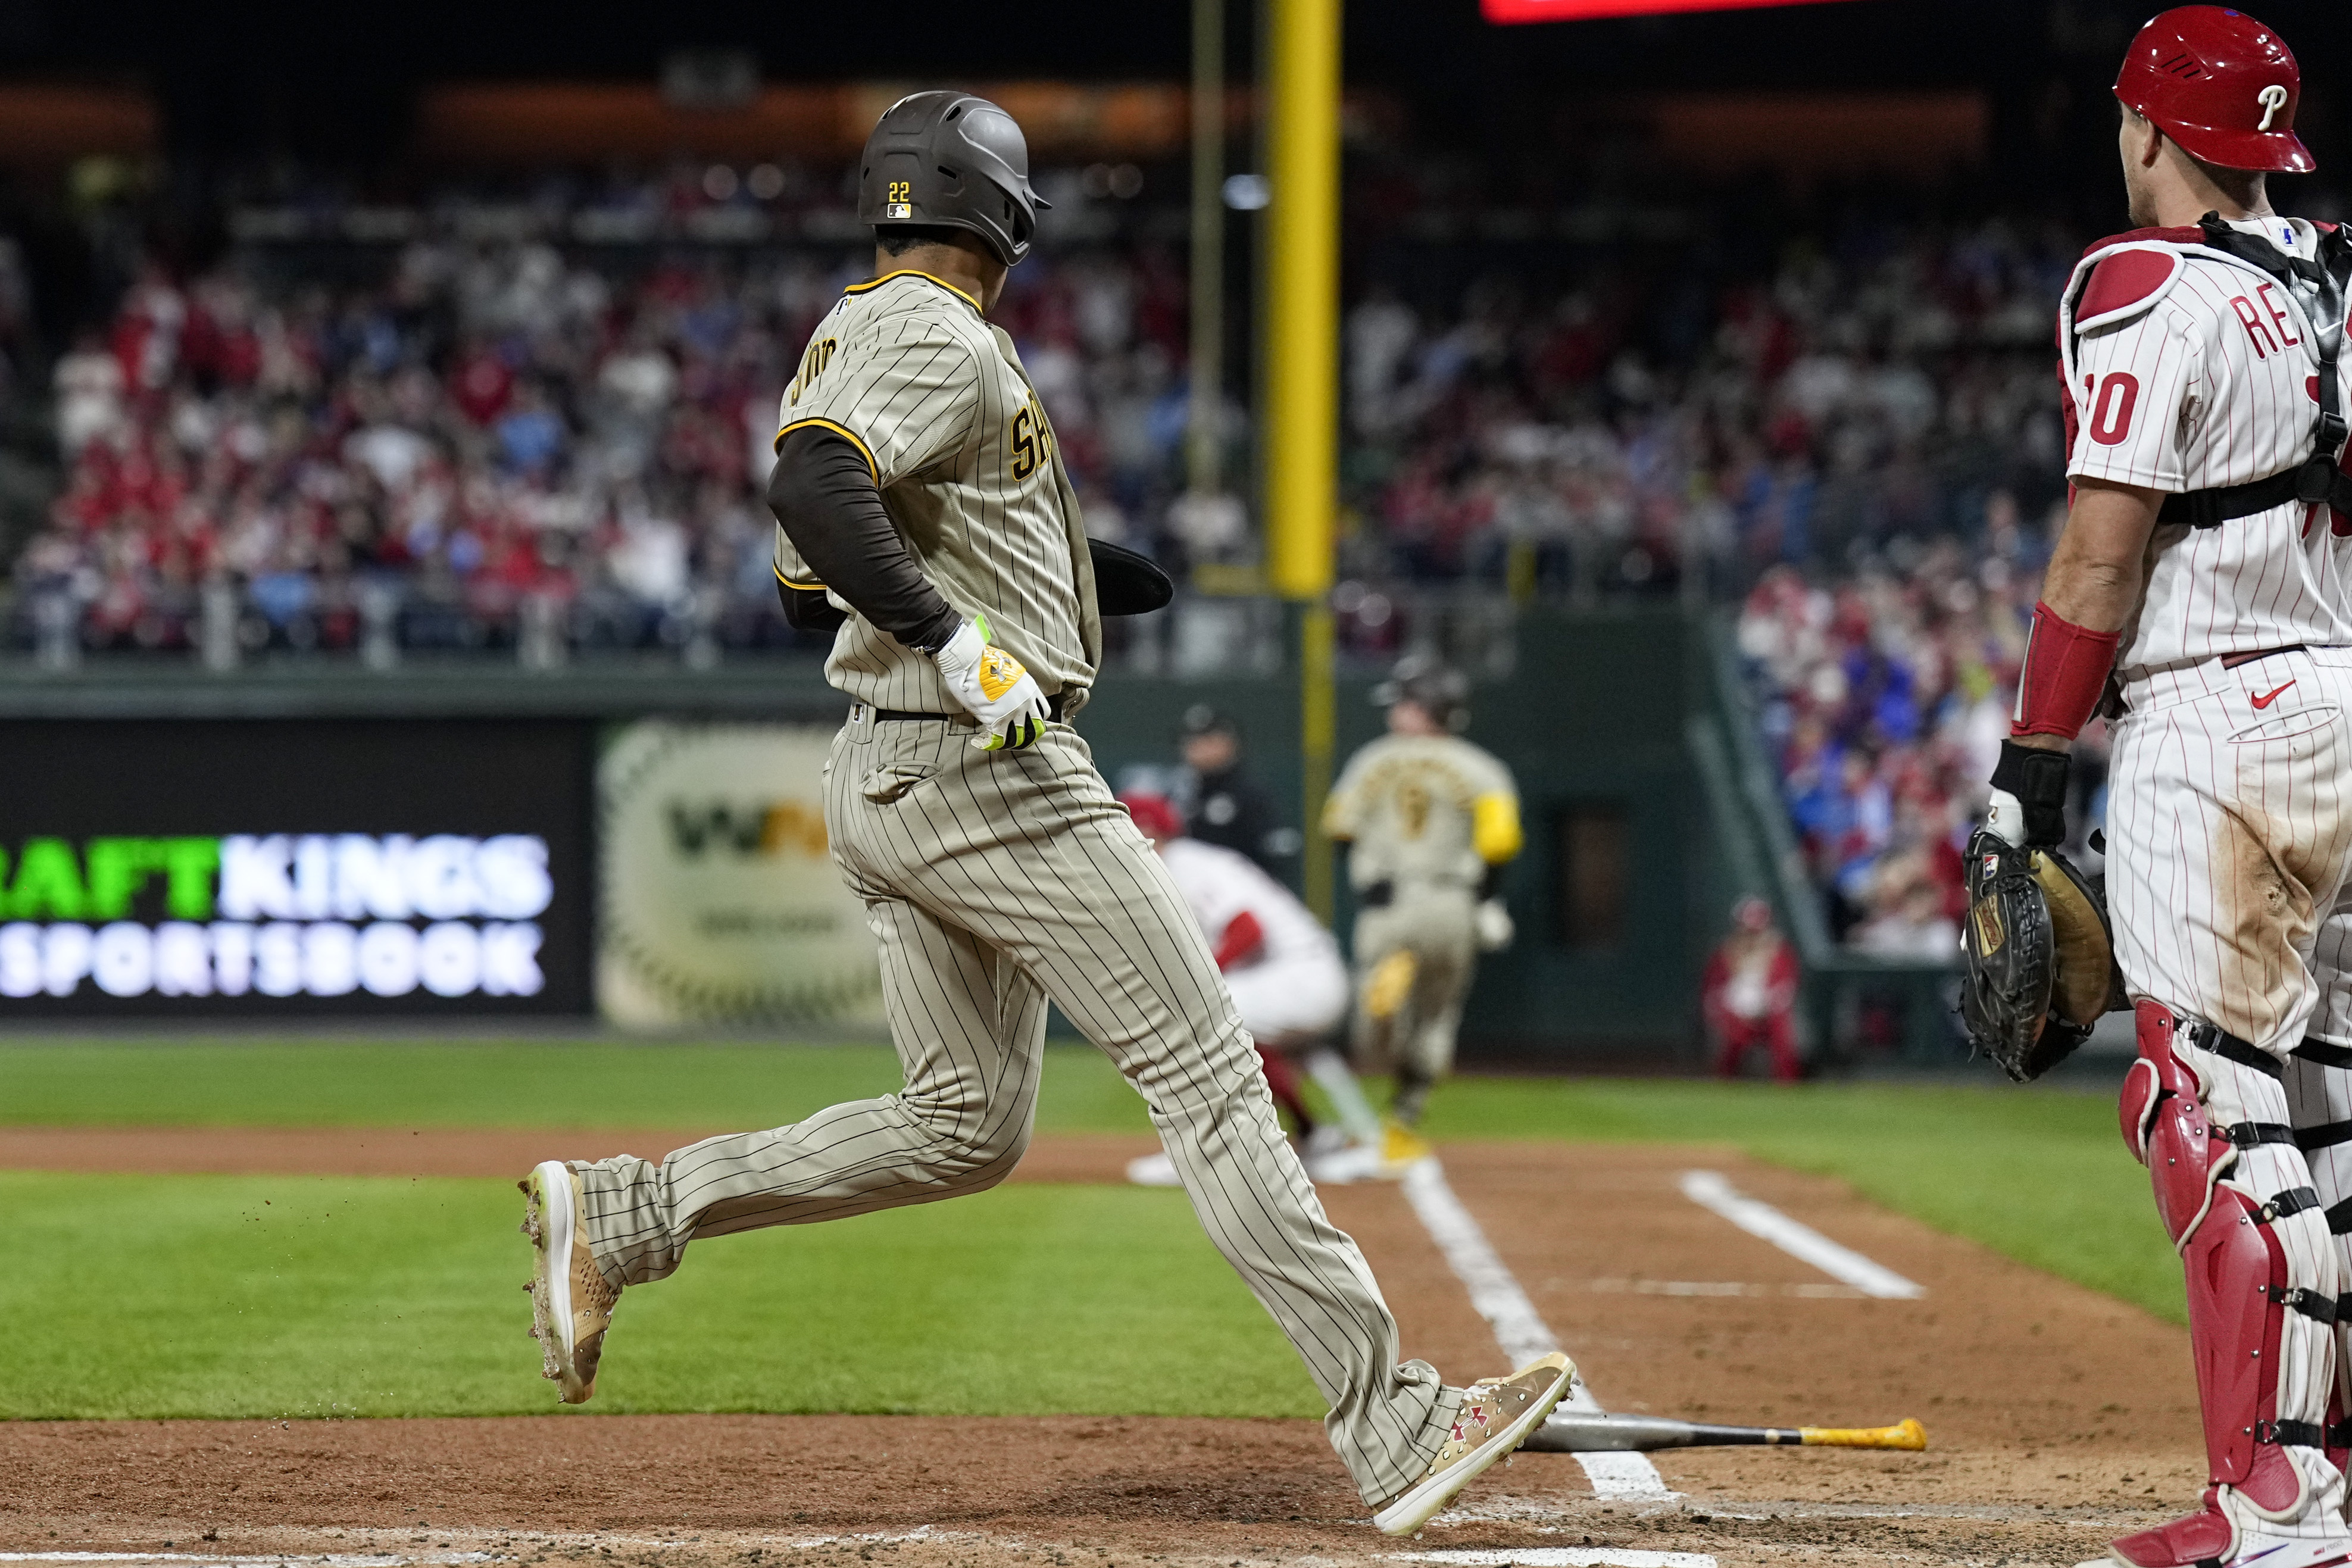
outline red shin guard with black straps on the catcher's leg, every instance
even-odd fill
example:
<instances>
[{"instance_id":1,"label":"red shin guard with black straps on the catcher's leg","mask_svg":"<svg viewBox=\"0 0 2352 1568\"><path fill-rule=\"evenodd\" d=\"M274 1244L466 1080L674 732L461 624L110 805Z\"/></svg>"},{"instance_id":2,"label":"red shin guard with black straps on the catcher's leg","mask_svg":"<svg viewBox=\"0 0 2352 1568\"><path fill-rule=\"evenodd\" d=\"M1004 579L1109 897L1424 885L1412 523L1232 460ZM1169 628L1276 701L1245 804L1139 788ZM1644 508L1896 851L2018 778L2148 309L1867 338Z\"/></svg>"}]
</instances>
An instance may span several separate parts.
<instances>
[{"instance_id":1,"label":"red shin guard with black straps on the catcher's leg","mask_svg":"<svg viewBox=\"0 0 2352 1568\"><path fill-rule=\"evenodd\" d=\"M2270 1519L2314 1502L2286 1448L2324 1448L2333 1394L2336 1244L2286 1126L2286 1091L2213 1051L2176 1051L2176 1020L2138 1006L2124 1143L2154 1178L2187 1274L2190 1354L2211 1479ZM2281 1185L2293 1182L2293 1185ZM2331 1467L2314 1467L2340 1495Z\"/></svg>"}]
</instances>

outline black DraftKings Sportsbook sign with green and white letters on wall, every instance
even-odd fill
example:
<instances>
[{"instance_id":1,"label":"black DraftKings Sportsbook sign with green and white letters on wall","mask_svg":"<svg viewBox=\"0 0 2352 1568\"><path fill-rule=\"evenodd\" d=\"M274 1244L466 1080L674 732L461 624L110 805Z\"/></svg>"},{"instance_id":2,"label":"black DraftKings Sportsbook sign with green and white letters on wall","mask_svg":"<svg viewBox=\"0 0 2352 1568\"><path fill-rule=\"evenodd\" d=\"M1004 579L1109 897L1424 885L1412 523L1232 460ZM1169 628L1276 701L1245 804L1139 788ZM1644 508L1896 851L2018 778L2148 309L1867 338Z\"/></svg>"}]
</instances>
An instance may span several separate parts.
<instances>
[{"instance_id":1,"label":"black DraftKings Sportsbook sign with green and white letters on wall","mask_svg":"<svg viewBox=\"0 0 2352 1568\"><path fill-rule=\"evenodd\" d=\"M0 1018L586 1013L593 731L0 724Z\"/></svg>"}]
</instances>

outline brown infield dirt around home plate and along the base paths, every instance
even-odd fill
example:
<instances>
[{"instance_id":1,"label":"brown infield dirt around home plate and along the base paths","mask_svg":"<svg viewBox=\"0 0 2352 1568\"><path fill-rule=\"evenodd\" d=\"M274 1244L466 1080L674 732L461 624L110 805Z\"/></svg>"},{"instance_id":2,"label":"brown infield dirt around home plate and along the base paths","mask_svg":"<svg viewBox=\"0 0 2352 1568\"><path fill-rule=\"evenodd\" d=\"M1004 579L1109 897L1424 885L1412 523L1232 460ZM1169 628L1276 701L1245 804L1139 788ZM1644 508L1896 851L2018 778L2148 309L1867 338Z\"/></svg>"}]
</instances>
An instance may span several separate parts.
<instances>
[{"instance_id":1,"label":"brown infield dirt around home plate and along the base paths","mask_svg":"<svg viewBox=\"0 0 2352 1568\"><path fill-rule=\"evenodd\" d=\"M374 1152L367 1138L379 1138ZM0 1133L0 1164L515 1168L508 1135L440 1138L449 1147L16 1128ZM614 1133L579 1150L546 1133L513 1138L524 1161L619 1147ZM1115 1180L1136 1147L1040 1140L1023 1175ZM1397 1542L1371 1530L1315 1422L19 1422L0 1425L0 1563L2077 1563L2197 1500L2187 1340L2122 1302L1877 1211L1837 1182L1715 1147L1446 1147L1444 1168L1611 1410L1764 1425L1917 1415L1931 1450L1661 1453L1665 1500L1599 1497L1571 1455L1519 1455L1425 1535ZM1926 1293L1879 1300L1830 1281L1684 1199L1677 1182L1691 1168L1722 1171ZM1397 1187L1331 1187L1324 1201L1364 1244L1409 1354L1449 1375L1503 1366ZM1115 1333L1105 1345L1117 1354Z\"/></svg>"}]
</instances>

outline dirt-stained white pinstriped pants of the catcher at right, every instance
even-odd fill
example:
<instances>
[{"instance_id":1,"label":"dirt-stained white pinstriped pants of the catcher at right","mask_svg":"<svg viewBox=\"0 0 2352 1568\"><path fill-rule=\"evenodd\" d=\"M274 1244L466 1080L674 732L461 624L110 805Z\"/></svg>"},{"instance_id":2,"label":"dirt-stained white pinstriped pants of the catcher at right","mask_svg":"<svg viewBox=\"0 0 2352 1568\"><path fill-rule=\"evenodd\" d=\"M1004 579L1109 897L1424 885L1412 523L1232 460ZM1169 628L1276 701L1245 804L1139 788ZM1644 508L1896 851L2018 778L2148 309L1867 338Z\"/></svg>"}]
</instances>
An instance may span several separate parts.
<instances>
[{"instance_id":1,"label":"dirt-stained white pinstriped pants of the catcher at right","mask_svg":"<svg viewBox=\"0 0 2352 1568\"><path fill-rule=\"evenodd\" d=\"M2131 682L2124 701L2107 776L2124 983L2284 1063L2274 1084L2176 1046L2213 1086L2216 1121L2296 1128L2296 1145L2244 1150L2230 1182L2256 1201L2319 1194L2321 1208L2281 1218L2272 1241L2293 1284L2338 1293L2352 1281L2352 1070L2291 1051L2352 1044L2352 654L2272 654L2234 670L2209 658ZM2326 1420L2331 1394L2352 1387L2352 1321L2326 1331L2284 1314L2277 1380L2281 1418ZM2343 1481L2321 1455L2291 1453L2312 1497L2300 1528L2338 1528Z\"/></svg>"}]
</instances>

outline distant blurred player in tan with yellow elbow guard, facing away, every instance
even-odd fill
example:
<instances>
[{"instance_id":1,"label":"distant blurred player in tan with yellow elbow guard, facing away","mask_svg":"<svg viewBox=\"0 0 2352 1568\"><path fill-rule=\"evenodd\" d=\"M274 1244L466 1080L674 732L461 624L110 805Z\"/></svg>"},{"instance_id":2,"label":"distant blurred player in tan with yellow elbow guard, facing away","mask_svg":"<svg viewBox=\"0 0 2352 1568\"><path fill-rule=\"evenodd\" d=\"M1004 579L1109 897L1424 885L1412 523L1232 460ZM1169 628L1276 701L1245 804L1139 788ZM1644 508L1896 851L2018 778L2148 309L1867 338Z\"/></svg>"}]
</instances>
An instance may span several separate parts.
<instances>
[{"instance_id":1,"label":"distant blurred player in tan with yellow elbow guard, facing away","mask_svg":"<svg viewBox=\"0 0 2352 1568\"><path fill-rule=\"evenodd\" d=\"M1454 1067L1477 954L1512 936L1496 877L1519 853L1519 792L1510 769L1454 733L1465 696L1454 670L1404 658L1374 691L1388 733L1348 759L1324 802L1357 898L1357 1065L1397 1074L1392 1159L1428 1152L1409 1128Z\"/></svg>"}]
</instances>

